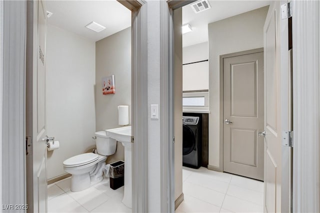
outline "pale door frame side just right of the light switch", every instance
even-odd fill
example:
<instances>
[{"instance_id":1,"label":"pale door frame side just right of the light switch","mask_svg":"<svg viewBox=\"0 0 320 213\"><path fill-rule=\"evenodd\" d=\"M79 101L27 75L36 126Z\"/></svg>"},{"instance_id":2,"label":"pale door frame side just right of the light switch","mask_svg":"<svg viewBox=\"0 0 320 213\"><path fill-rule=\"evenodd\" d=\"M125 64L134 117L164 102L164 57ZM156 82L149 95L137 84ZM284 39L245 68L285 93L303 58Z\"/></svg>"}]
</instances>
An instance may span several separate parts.
<instances>
[{"instance_id":1,"label":"pale door frame side just right of the light switch","mask_svg":"<svg viewBox=\"0 0 320 213\"><path fill-rule=\"evenodd\" d=\"M160 2L161 212L174 212L174 9L195 0Z\"/></svg>"}]
</instances>

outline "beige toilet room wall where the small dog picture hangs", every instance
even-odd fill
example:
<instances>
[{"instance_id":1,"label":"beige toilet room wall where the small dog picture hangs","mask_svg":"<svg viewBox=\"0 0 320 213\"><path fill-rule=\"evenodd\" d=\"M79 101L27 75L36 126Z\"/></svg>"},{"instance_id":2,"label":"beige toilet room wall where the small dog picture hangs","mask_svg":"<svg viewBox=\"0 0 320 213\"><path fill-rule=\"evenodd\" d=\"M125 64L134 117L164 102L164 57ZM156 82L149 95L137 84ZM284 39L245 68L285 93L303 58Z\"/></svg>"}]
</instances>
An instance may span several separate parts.
<instances>
[{"instance_id":1,"label":"beige toilet room wall where the small dog picture hangs","mask_svg":"<svg viewBox=\"0 0 320 213\"><path fill-rule=\"evenodd\" d=\"M115 94L102 95L102 77L114 75ZM131 28L103 38L95 43L95 129L120 127L118 105L129 106L131 124ZM116 153L107 163L124 160L124 149L117 143Z\"/></svg>"}]
</instances>

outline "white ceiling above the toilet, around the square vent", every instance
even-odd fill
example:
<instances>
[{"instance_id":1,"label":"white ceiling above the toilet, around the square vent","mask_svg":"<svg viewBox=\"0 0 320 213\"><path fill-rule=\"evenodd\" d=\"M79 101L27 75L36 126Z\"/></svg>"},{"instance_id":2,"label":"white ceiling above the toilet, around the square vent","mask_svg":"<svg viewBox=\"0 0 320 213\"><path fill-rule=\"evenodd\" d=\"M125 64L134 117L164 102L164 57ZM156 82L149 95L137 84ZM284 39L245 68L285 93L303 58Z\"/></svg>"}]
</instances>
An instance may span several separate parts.
<instances>
[{"instance_id":1,"label":"white ceiling above the toilet, around the square vent","mask_svg":"<svg viewBox=\"0 0 320 213\"><path fill-rule=\"evenodd\" d=\"M45 0L52 12L48 23L98 41L131 25L131 11L116 0ZM91 21L106 29L94 32L84 26Z\"/></svg>"}]
</instances>

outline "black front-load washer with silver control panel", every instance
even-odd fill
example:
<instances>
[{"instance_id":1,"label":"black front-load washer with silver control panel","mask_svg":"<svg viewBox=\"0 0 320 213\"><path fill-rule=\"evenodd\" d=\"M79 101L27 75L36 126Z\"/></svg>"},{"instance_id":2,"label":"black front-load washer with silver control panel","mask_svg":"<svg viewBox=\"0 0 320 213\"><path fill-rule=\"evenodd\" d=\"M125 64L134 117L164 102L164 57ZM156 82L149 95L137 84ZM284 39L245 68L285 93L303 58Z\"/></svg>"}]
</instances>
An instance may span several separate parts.
<instances>
[{"instance_id":1,"label":"black front-load washer with silver control panel","mask_svg":"<svg viewBox=\"0 0 320 213\"><path fill-rule=\"evenodd\" d=\"M182 116L182 165L190 168L201 166L202 137L199 117Z\"/></svg>"}]
</instances>

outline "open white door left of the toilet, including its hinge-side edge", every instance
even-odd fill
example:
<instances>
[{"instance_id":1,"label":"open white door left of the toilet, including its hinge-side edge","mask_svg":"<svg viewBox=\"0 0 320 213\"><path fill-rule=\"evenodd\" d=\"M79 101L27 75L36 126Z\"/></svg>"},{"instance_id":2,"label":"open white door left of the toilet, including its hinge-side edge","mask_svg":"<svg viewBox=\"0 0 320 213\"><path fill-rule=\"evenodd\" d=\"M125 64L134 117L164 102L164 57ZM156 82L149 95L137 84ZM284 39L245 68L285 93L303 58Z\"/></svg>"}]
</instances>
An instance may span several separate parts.
<instances>
[{"instance_id":1,"label":"open white door left of the toilet, including its hinge-side edge","mask_svg":"<svg viewBox=\"0 0 320 213\"><path fill-rule=\"evenodd\" d=\"M46 11L43 1L28 2L26 134L29 140L27 159L28 212L47 212L46 129L45 129L45 40ZM32 31L30 33L30 31ZM28 38L29 36L29 38ZM30 59L31 58L31 59ZM32 65L28 65L32 63ZM30 68L31 67L31 68ZM32 178L31 178L31 177ZM31 185L31 186L29 186Z\"/></svg>"}]
</instances>

